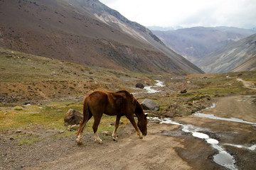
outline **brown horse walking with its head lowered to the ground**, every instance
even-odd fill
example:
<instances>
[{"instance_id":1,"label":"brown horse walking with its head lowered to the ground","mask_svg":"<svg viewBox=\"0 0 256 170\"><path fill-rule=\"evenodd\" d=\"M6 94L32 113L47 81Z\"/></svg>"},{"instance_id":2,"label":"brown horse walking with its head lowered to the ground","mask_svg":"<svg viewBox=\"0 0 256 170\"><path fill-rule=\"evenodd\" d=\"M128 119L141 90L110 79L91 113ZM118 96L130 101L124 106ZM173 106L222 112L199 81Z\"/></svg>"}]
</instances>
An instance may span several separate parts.
<instances>
[{"instance_id":1,"label":"brown horse walking with its head lowered to the ground","mask_svg":"<svg viewBox=\"0 0 256 170\"><path fill-rule=\"evenodd\" d=\"M85 128L85 124L90 120L90 118L92 118L92 116L95 119L92 125L92 129L95 134L95 141L102 143L102 140L97 134L97 128L100 124L100 119L102 118L103 113L106 115L117 115L114 132L112 134L113 140L117 140L117 128L119 126L119 120L123 115L125 115L132 123L140 138L142 138L142 135L146 136L146 115L144 114L142 106L134 96L132 96L132 94L129 94L128 91L117 91L116 93L95 91L92 94L85 96L84 99L83 119L80 122L78 132L76 132L76 135L78 135L76 140L78 145L82 145L82 130ZM134 113L138 118L137 125L134 120ZM142 135L139 130L142 132Z\"/></svg>"}]
</instances>

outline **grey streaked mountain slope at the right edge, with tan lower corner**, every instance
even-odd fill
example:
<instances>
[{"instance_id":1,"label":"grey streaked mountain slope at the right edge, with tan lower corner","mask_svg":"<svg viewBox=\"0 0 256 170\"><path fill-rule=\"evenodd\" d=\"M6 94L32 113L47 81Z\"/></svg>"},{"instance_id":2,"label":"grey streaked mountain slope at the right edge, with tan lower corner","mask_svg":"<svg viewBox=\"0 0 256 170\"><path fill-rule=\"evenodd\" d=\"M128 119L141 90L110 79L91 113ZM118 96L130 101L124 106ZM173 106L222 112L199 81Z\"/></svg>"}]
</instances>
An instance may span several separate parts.
<instances>
[{"instance_id":1,"label":"grey streaked mountain slope at the right edge, with tan lower corner","mask_svg":"<svg viewBox=\"0 0 256 170\"><path fill-rule=\"evenodd\" d=\"M256 69L256 34L230 43L196 62L204 72L240 72Z\"/></svg>"}]
</instances>

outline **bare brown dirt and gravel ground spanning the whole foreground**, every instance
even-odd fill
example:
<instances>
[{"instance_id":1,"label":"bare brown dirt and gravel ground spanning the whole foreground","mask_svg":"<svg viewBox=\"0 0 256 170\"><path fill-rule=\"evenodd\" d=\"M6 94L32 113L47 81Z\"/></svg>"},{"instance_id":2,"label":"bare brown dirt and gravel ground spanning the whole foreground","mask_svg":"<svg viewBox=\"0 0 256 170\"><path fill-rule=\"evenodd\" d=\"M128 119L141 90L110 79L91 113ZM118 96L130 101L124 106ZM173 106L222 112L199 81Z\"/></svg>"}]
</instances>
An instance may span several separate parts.
<instances>
[{"instance_id":1,"label":"bare brown dirt and gravel ground spanning the whole foreground","mask_svg":"<svg viewBox=\"0 0 256 170\"><path fill-rule=\"evenodd\" d=\"M242 99L242 100L240 100ZM219 98L216 107L203 113L222 118L240 118L256 122L256 106L247 96ZM245 123L201 118L196 115L174 118L176 122L195 125L235 158L237 169L254 169L256 151L231 147L256 144L256 128ZM205 140L193 137L181 130L179 125L148 124L148 135L142 140L137 137L131 124L118 131L119 140L105 138L102 145L94 142L91 132L87 132L79 147L73 137L56 137L54 130L38 135L46 137L32 145L18 146L9 139L15 132L1 134L0 169L226 169L213 162L218 153Z\"/></svg>"}]
</instances>

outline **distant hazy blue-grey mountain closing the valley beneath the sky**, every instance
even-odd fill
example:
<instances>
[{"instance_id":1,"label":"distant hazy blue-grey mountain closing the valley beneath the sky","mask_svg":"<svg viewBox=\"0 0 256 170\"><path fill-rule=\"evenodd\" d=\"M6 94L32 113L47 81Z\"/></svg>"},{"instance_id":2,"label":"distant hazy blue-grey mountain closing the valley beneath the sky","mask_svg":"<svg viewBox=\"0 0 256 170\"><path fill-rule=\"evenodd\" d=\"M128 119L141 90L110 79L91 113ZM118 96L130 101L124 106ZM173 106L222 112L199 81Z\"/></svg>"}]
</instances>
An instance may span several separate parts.
<instances>
[{"instance_id":1,"label":"distant hazy blue-grey mountain closing the valley beneath the sky","mask_svg":"<svg viewBox=\"0 0 256 170\"><path fill-rule=\"evenodd\" d=\"M255 33L253 30L232 27L193 27L152 32L168 47L193 63L230 42Z\"/></svg>"}]
</instances>

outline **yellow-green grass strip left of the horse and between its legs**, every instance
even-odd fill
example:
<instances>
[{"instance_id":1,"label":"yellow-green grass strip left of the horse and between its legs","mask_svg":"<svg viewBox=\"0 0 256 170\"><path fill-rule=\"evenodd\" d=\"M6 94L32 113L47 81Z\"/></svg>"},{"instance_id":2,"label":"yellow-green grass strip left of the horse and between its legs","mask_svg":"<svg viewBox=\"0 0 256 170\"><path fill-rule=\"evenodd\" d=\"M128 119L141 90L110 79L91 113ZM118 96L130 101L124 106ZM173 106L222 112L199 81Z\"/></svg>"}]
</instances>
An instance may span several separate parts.
<instances>
[{"instance_id":1,"label":"yellow-green grass strip left of the horse and between its legs","mask_svg":"<svg viewBox=\"0 0 256 170\"><path fill-rule=\"evenodd\" d=\"M70 108L82 113L82 103L49 103L46 106L23 106L22 111L15 111L14 108L7 108L0 111L0 131L16 130L16 129L33 129L36 125L42 125L44 129L55 128L58 130L66 130L64 126L65 113ZM98 131L112 131L114 126L110 123L114 122L115 116L103 115ZM93 118L91 118L84 131L92 132ZM124 120L127 123L128 120ZM68 132L69 133L69 132ZM74 132L72 132L74 135ZM68 135L68 134L67 134Z\"/></svg>"}]
</instances>

